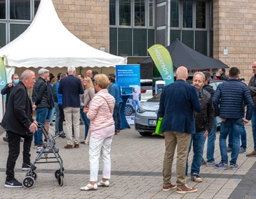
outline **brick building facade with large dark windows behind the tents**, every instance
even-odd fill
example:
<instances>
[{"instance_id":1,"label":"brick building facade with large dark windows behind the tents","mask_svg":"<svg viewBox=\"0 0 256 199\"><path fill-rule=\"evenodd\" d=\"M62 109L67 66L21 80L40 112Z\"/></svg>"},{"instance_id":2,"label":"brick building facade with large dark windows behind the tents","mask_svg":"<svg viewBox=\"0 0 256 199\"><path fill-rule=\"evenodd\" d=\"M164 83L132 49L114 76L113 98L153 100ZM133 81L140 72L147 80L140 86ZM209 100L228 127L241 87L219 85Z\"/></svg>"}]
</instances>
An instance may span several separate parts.
<instances>
[{"instance_id":1,"label":"brick building facade with large dark windows behind the tents","mask_svg":"<svg viewBox=\"0 0 256 199\"><path fill-rule=\"evenodd\" d=\"M43 0L45 1L45 0ZM49 0L47 0L49 1ZM0 0L0 47L22 34L40 0ZM128 57L149 56L176 38L228 66L248 82L256 60L255 0L53 0L62 23L88 45Z\"/></svg>"}]
</instances>

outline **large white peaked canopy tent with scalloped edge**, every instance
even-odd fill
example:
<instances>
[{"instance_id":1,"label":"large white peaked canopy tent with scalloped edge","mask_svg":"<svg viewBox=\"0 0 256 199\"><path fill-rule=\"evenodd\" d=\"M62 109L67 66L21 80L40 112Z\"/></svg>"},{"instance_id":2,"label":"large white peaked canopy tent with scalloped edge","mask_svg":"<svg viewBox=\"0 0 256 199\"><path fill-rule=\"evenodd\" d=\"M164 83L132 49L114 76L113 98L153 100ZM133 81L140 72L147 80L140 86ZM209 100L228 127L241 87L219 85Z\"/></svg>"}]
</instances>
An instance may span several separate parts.
<instances>
[{"instance_id":1,"label":"large white peaked canopy tent with scalloped edge","mask_svg":"<svg viewBox=\"0 0 256 199\"><path fill-rule=\"evenodd\" d=\"M126 64L127 60L97 50L76 38L60 21L52 0L41 0L32 24L0 49L0 57L4 57L8 81L17 67L110 67ZM1 100L0 121L4 112Z\"/></svg>"}]
</instances>

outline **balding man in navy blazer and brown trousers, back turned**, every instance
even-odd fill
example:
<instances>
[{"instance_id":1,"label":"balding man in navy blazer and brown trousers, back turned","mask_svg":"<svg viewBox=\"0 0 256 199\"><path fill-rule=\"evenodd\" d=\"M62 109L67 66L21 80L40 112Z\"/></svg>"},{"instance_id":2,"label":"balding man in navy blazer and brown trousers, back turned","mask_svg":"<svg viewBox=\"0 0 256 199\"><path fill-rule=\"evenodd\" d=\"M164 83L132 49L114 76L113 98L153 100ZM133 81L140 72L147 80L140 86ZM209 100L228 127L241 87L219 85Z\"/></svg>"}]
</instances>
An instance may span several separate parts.
<instances>
[{"instance_id":1,"label":"balding man in navy blazer and brown trousers, back turned","mask_svg":"<svg viewBox=\"0 0 256 199\"><path fill-rule=\"evenodd\" d=\"M176 82L163 88L158 117L163 117L162 131L166 152L163 159L163 191L176 189L177 193L192 193L197 189L188 187L185 167L191 133L195 133L194 111L201 112L195 87L186 82L187 68L180 66L176 71ZM173 155L177 145L177 186L171 184Z\"/></svg>"}]
</instances>

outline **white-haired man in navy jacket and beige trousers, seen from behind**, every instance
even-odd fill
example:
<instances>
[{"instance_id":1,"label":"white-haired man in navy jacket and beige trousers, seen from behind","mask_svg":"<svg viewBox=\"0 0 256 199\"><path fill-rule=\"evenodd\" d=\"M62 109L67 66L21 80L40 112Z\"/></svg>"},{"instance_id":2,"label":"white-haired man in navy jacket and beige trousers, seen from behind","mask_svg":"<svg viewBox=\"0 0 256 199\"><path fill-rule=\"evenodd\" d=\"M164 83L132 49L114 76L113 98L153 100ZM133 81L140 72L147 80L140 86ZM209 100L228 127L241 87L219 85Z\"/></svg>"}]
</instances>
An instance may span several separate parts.
<instances>
[{"instance_id":1,"label":"white-haired man in navy jacket and beige trousers, seen from behind","mask_svg":"<svg viewBox=\"0 0 256 199\"><path fill-rule=\"evenodd\" d=\"M67 126L67 145L65 149L73 148L72 126L74 127L74 148L79 148L79 118L80 118L80 94L83 94L81 80L76 78L76 68L69 66L67 68L66 78L60 80L58 93L62 94L62 108L65 115Z\"/></svg>"}]
</instances>

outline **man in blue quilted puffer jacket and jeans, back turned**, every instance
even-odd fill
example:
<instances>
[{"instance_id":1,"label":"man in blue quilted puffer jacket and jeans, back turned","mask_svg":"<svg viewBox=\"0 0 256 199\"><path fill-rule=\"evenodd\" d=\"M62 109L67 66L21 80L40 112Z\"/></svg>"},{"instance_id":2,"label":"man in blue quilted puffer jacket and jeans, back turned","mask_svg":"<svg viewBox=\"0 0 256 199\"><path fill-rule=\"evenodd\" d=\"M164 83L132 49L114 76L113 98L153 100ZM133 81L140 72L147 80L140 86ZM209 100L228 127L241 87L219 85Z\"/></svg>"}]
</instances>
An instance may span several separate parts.
<instances>
[{"instance_id":1,"label":"man in blue quilted puffer jacket and jeans, back turned","mask_svg":"<svg viewBox=\"0 0 256 199\"><path fill-rule=\"evenodd\" d=\"M229 69L229 80L219 84L213 96L215 115L220 116L220 154L222 160L215 165L218 169L238 168L236 164L240 149L240 134L243 124L247 124L252 118L253 102L250 92L243 82L239 81L239 69L232 67ZM247 111L245 115L245 106ZM227 156L227 135L231 131L233 135L233 149L231 160L228 165Z\"/></svg>"}]
</instances>

